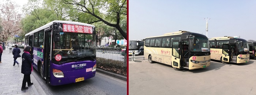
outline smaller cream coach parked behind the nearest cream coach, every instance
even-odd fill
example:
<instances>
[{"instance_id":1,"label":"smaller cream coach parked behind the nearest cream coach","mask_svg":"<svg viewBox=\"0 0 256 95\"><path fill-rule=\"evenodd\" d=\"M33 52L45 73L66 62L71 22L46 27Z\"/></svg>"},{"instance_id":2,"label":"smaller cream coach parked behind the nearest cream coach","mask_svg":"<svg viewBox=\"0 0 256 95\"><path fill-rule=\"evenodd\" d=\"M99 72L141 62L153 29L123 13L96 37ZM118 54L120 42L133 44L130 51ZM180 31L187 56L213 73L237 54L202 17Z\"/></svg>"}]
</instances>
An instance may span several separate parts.
<instances>
[{"instance_id":1,"label":"smaller cream coach parked behind the nearest cream coach","mask_svg":"<svg viewBox=\"0 0 256 95\"><path fill-rule=\"evenodd\" d=\"M211 44L211 59L223 64L246 63L249 61L249 46L245 39L234 37L214 37L209 39Z\"/></svg>"}]
</instances>

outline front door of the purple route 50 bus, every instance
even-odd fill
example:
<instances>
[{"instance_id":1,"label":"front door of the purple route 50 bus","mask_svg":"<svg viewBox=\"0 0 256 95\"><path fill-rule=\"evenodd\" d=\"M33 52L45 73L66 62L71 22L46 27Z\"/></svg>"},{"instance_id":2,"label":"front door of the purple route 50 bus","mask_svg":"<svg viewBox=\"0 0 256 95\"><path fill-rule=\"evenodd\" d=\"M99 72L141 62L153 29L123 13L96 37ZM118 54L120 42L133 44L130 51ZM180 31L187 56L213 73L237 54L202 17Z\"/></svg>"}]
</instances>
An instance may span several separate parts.
<instances>
[{"instance_id":1,"label":"front door of the purple route 50 bus","mask_svg":"<svg viewBox=\"0 0 256 95\"><path fill-rule=\"evenodd\" d=\"M48 30L45 32L45 46L44 46L44 64L43 64L43 75L45 83L49 83L50 77L49 77L49 72L50 72L50 44L51 44L51 30ZM43 78L43 77L42 77Z\"/></svg>"}]
</instances>

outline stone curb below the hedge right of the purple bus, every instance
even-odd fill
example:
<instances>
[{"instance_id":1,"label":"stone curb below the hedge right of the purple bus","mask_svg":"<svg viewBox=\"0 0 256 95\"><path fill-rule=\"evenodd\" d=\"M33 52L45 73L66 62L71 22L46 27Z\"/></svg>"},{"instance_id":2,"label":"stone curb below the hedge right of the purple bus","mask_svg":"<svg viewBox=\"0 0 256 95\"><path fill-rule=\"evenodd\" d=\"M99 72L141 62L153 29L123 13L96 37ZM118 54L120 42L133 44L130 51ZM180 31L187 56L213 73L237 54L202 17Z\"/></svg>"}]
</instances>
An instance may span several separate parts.
<instances>
[{"instance_id":1,"label":"stone curb below the hedge right of the purple bus","mask_svg":"<svg viewBox=\"0 0 256 95\"><path fill-rule=\"evenodd\" d=\"M96 72L100 72L100 73L103 73L105 75L109 75L109 76L115 77L117 79L121 79L121 80L127 81L127 76L119 75L117 73L105 71L105 70L98 69L98 68L96 68Z\"/></svg>"}]
</instances>

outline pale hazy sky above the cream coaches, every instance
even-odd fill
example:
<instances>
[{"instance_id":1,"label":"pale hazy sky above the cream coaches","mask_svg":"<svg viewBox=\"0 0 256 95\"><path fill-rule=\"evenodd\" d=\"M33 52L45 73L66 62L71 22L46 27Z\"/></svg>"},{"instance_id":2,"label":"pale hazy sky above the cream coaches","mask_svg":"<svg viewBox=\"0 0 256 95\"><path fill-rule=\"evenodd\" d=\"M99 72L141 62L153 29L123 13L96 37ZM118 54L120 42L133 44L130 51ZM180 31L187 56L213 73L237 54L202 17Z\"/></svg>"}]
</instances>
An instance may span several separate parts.
<instances>
[{"instance_id":1,"label":"pale hazy sky above the cream coaches","mask_svg":"<svg viewBox=\"0 0 256 95\"><path fill-rule=\"evenodd\" d=\"M129 39L178 30L256 41L256 0L129 0Z\"/></svg>"}]
</instances>

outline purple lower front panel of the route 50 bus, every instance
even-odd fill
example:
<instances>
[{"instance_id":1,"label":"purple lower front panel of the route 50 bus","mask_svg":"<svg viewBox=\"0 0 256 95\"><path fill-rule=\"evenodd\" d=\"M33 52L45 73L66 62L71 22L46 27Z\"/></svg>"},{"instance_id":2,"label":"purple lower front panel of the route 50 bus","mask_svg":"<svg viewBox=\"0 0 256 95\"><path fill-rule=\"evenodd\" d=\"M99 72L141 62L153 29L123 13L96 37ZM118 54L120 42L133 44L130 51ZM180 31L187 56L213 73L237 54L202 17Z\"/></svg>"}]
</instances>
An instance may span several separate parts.
<instances>
[{"instance_id":1,"label":"purple lower front panel of the route 50 bus","mask_svg":"<svg viewBox=\"0 0 256 95\"><path fill-rule=\"evenodd\" d=\"M86 64L86 66L85 66ZM53 86L75 83L75 79L84 77L84 80L90 79L95 76L96 71L86 72L86 69L93 68L96 61L80 61L80 62L68 62L65 64L53 64L51 62L50 68L50 84ZM64 77L57 78L53 75L53 69L58 69L64 73ZM60 80L60 82L59 82Z\"/></svg>"}]
</instances>

